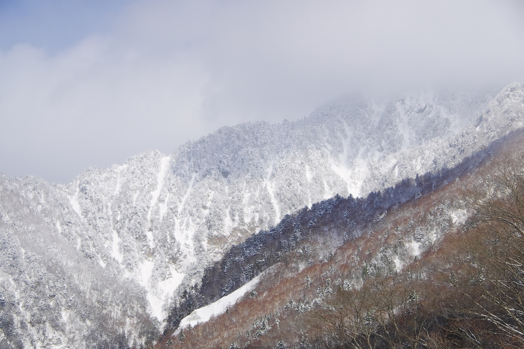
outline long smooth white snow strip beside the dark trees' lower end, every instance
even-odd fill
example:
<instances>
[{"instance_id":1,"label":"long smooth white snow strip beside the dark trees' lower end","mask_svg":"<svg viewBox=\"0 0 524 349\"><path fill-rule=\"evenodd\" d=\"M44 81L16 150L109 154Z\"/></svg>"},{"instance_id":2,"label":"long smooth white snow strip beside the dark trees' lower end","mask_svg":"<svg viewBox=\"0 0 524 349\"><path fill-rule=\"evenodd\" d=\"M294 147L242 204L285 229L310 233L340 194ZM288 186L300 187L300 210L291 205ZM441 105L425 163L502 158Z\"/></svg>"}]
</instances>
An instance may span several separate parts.
<instances>
[{"instance_id":1,"label":"long smooth white snow strip beside the dark trees' lower end","mask_svg":"<svg viewBox=\"0 0 524 349\"><path fill-rule=\"evenodd\" d=\"M180 321L179 329L187 328L188 326L193 327L196 324L209 321L209 319L212 317L217 317L223 314L226 309L233 306L239 298L244 296L247 292L253 290L259 281L260 275L246 283L246 285L242 286L241 288L233 291L229 295L209 304L209 306L193 310L191 314Z\"/></svg>"}]
</instances>

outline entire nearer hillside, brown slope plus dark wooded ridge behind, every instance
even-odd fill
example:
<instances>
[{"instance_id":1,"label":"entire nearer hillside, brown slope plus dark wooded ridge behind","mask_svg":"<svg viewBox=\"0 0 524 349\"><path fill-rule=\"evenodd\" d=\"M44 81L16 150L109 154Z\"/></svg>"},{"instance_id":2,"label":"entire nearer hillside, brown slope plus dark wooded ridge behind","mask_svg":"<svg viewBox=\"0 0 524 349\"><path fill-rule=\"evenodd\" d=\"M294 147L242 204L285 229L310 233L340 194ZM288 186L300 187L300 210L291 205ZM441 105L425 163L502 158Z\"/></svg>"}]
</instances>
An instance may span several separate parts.
<instances>
[{"instance_id":1,"label":"entire nearer hillside, brown slope plus dark wooded ridge behind","mask_svg":"<svg viewBox=\"0 0 524 349\"><path fill-rule=\"evenodd\" d=\"M519 131L448 171L288 217L208 270L220 295L252 260L271 264L236 304L200 324L194 312L157 347L521 347L522 149ZM205 282L195 293L220 298Z\"/></svg>"}]
</instances>

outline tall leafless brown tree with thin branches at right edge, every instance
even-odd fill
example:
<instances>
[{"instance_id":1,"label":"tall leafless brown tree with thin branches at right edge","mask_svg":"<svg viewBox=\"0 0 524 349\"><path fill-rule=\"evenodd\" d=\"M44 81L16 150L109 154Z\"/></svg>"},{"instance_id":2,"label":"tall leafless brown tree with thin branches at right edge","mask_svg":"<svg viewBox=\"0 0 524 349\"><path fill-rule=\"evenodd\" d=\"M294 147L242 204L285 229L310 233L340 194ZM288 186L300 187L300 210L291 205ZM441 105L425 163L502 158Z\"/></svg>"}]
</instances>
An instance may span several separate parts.
<instances>
[{"instance_id":1,"label":"tall leafless brown tree with thin branches at right edge","mask_svg":"<svg viewBox=\"0 0 524 349\"><path fill-rule=\"evenodd\" d=\"M475 252L482 287L476 314L495 324L509 343L524 345L524 154L495 163L466 188L470 225L483 230L485 244Z\"/></svg>"}]
</instances>

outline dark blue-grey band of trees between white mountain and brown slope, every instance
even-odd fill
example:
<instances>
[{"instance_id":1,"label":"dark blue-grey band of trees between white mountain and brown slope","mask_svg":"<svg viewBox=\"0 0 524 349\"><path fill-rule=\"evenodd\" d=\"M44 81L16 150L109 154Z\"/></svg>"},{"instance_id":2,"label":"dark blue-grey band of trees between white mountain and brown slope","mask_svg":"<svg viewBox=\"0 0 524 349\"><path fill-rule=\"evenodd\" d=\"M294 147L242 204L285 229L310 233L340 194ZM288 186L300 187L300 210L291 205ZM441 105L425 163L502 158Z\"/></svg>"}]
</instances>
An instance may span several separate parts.
<instances>
[{"instance_id":1,"label":"dark blue-grey band of trees between white mountain and brown slope","mask_svg":"<svg viewBox=\"0 0 524 349\"><path fill-rule=\"evenodd\" d=\"M207 268L201 283L184 291L178 306L171 310L166 334L176 329L194 309L228 295L280 261L301 263L329 255L345 242L372 230L389 210L398 209L400 205L428 195L464 173L474 171L517 136L521 134L511 134L495 141L452 169L404 179L395 187L372 192L365 198L336 195L313 204L311 209L303 208L296 214L286 215L276 227L233 246L219 263ZM317 247L326 239L328 245Z\"/></svg>"}]
</instances>

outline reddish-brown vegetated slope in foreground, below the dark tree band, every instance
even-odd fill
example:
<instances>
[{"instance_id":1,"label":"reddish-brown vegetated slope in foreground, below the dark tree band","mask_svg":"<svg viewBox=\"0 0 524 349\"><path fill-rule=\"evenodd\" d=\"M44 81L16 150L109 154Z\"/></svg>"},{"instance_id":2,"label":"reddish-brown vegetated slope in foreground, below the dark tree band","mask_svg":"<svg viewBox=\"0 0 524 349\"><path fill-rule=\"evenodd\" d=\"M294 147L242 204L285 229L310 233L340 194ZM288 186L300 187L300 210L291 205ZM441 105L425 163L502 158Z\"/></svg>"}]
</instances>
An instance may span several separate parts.
<instances>
[{"instance_id":1,"label":"reddish-brown vegetated slope in foreground, below the dark tree band","mask_svg":"<svg viewBox=\"0 0 524 349\"><path fill-rule=\"evenodd\" d=\"M523 347L524 156L514 153L391 210L326 258L287 258L256 297L157 347Z\"/></svg>"}]
</instances>

